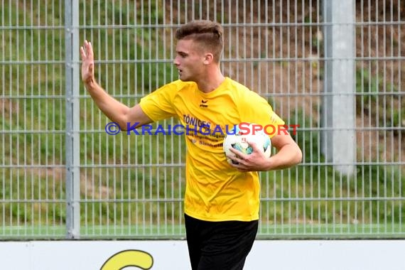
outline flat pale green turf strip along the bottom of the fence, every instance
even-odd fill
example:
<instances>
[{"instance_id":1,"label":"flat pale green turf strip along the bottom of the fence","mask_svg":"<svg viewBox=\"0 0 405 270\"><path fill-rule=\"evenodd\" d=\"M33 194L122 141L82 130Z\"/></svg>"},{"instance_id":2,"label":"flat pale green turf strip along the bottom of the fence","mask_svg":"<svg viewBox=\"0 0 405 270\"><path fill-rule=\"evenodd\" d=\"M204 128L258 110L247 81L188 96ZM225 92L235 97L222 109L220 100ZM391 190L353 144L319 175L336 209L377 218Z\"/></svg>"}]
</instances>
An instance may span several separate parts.
<instances>
[{"instance_id":1,"label":"flat pale green turf strip along the bottom of the fence","mask_svg":"<svg viewBox=\"0 0 405 270\"><path fill-rule=\"evenodd\" d=\"M6 226L2 239L65 239L66 228L56 226ZM80 239L184 239L184 225L99 225L80 228ZM404 238L398 224L278 224L259 225L257 239L399 239Z\"/></svg>"}]
</instances>

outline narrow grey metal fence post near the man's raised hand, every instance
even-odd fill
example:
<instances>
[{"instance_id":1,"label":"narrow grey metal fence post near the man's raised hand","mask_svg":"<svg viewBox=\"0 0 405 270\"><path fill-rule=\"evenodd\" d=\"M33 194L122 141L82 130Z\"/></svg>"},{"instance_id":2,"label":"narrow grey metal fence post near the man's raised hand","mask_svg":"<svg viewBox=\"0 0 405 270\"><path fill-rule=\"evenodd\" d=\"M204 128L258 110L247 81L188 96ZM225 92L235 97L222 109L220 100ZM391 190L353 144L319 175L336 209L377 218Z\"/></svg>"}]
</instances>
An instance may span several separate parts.
<instances>
[{"instance_id":1,"label":"narrow grey metal fence post near the man's raised hand","mask_svg":"<svg viewBox=\"0 0 405 270\"><path fill-rule=\"evenodd\" d=\"M65 1L66 75L66 229L69 239L80 237L79 143L79 3Z\"/></svg>"}]
</instances>

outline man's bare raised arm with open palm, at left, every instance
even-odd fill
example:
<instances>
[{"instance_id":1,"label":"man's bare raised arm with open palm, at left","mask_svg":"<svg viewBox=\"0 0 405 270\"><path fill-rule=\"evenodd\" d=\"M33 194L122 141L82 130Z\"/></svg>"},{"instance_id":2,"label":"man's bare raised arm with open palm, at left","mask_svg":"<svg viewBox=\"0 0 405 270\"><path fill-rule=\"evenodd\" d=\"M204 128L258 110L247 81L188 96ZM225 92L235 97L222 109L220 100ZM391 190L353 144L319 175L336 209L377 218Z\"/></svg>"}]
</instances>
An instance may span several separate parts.
<instances>
[{"instance_id":1,"label":"man's bare raised arm with open palm, at left","mask_svg":"<svg viewBox=\"0 0 405 270\"><path fill-rule=\"evenodd\" d=\"M108 95L95 80L95 61L92 44L85 41L80 48L82 57L82 81L97 107L111 120L117 122L122 130L127 126L137 126L151 123L152 120L142 111L139 104L134 107L127 107L114 97Z\"/></svg>"}]
</instances>

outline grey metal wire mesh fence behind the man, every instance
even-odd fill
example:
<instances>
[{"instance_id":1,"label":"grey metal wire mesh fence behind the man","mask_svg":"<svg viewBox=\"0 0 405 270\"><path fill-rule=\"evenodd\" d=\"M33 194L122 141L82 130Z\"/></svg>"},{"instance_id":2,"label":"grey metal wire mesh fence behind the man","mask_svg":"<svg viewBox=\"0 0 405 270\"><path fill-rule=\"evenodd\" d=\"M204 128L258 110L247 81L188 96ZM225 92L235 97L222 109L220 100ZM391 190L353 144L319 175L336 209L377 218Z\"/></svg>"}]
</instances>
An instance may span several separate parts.
<instances>
[{"instance_id":1,"label":"grey metal wire mesh fence behind the man","mask_svg":"<svg viewBox=\"0 0 405 270\"><path fill-rule=\"evenodd\" d=\"M181 136L105 131L79 46L129 106L175 29L225 29L222 71L269 100L303 162L261 173L261 238L405 237L405 1L1 1L0 238L182 238ZM160 124L176 124L175 120Z\"/></svg>"}]
</instances>

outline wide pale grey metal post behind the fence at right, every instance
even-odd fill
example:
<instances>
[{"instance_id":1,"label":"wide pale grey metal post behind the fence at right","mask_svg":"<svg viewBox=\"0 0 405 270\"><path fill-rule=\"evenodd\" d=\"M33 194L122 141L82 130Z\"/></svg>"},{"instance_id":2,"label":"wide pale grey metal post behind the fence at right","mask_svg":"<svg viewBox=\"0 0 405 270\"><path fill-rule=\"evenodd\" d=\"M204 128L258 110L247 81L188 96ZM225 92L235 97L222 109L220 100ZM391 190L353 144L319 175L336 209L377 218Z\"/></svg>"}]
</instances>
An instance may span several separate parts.
<instances>
[{"instance_id":1,"label":"wide pale grey metal post behind the fence at right","mask_svg":"<svg viewBox=\"0 0 405 270\"><path fill-rule=\"evenodd\" d=\"M323 153L340 173L355 172L355 3L323 1Z\"/></svg>"}]
</instances>

